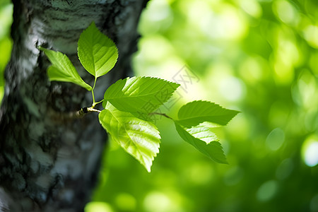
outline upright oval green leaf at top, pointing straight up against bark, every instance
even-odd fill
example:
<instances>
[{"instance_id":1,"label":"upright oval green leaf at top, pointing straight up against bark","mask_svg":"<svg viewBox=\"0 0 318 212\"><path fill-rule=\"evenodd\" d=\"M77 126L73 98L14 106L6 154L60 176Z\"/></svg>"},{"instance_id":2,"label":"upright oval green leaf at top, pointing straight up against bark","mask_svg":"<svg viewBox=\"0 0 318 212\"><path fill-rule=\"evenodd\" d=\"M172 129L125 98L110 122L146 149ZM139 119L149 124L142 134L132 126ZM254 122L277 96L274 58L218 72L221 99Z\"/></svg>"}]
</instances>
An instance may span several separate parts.
<instances>
[{"instance_id":1,"label":"upright oval green leaf at top, pointing straight up against bark","mask_svg":"<svg viewBox=\"0 0 318 212\"><path fill-rule=\"evenodd\" d=\"M118 49L93 22L81 33L78 40L78 58L84 68L98 78L114 67L118 58Z\"/></svg>"}]
</instances>

